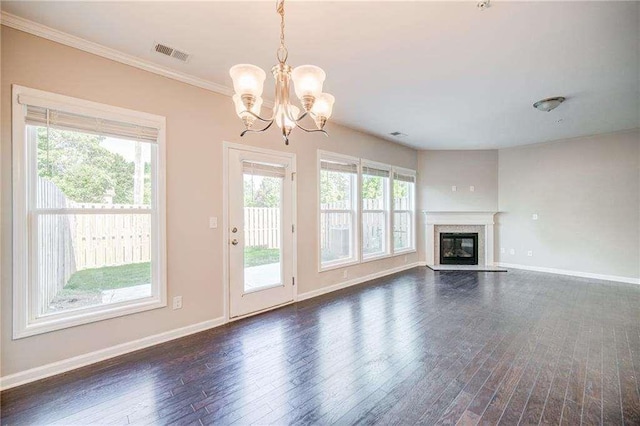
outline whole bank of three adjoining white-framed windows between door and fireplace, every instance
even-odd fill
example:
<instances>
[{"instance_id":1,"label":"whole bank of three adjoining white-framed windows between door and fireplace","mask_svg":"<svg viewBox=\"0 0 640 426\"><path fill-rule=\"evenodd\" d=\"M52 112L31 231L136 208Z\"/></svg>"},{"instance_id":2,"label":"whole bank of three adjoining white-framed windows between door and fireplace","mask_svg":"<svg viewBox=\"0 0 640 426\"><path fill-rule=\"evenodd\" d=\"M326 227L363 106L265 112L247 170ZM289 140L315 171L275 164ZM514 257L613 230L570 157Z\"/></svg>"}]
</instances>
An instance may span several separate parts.
<instances>
[{"instance_id":1,"label":"whole bank of three adjoining white-framed windows between door and fireplace","mask_svg":"<svg viewBox=\"0 0 640 426\"><path fill-rule=\"evenodd\" d=\"M415 251L415 182L413 170L319 151L320 270Z\"/></svg>"}]
</instances>

